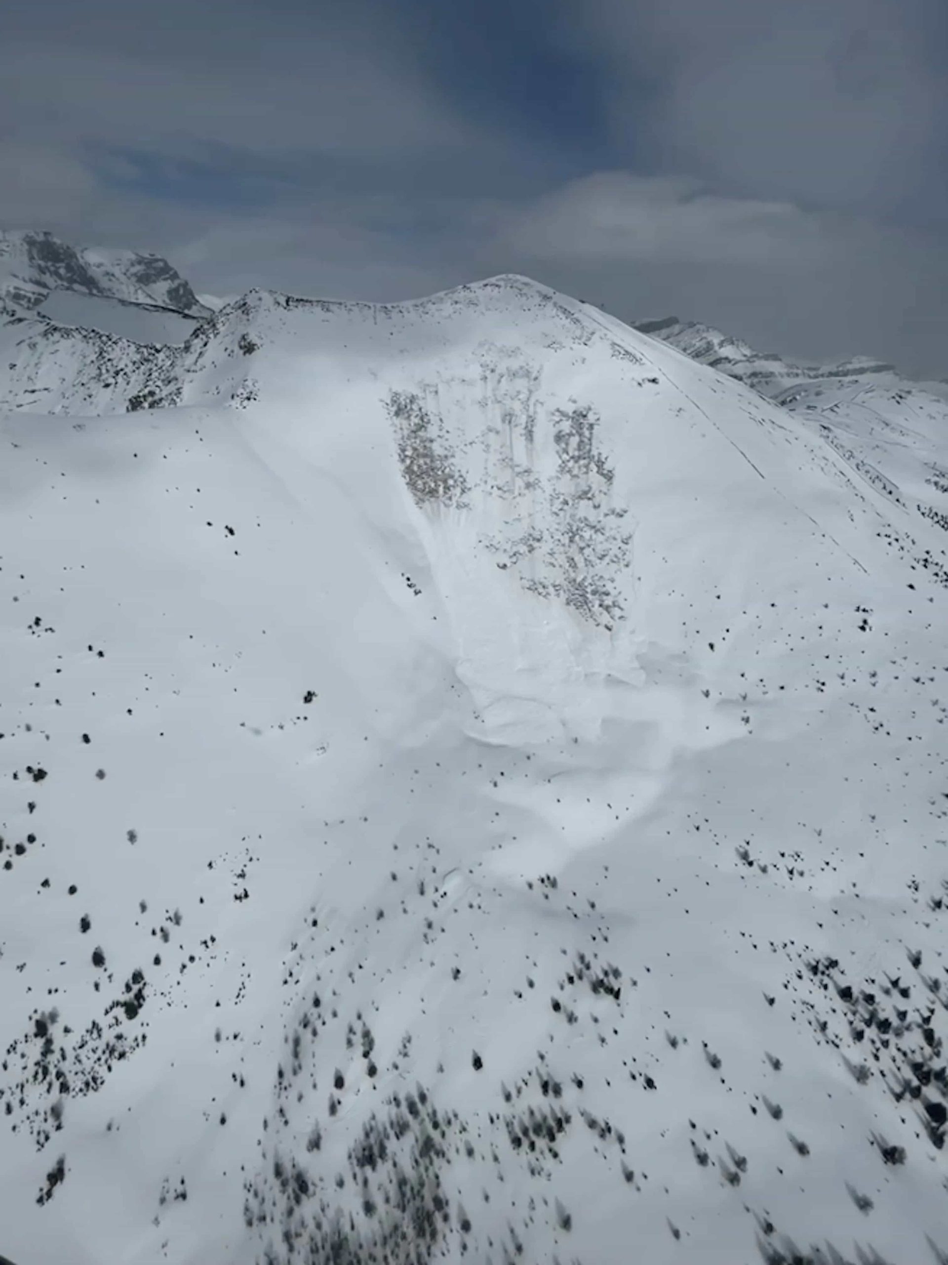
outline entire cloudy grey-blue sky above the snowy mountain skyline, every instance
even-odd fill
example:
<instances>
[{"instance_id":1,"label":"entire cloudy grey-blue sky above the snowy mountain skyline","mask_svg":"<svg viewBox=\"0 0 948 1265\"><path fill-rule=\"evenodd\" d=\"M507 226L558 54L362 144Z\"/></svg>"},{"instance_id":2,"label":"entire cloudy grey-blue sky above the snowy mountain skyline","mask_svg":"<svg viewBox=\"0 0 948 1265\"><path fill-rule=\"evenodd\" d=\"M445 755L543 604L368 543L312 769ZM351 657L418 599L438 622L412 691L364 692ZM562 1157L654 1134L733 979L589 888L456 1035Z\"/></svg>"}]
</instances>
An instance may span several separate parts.
<instances>
[{"instance_id":1,"label":"entire cloudy grey-blue sky above the snowy mountain skyline","mask_svg":"<svg viewBox=\"0 0 948 1265\"><path fill-rule=\"evenodd\" d=\"M942 0L33 0L0 221L198 288L525 272L948 376Z\"/></svg>"}]
</instances>

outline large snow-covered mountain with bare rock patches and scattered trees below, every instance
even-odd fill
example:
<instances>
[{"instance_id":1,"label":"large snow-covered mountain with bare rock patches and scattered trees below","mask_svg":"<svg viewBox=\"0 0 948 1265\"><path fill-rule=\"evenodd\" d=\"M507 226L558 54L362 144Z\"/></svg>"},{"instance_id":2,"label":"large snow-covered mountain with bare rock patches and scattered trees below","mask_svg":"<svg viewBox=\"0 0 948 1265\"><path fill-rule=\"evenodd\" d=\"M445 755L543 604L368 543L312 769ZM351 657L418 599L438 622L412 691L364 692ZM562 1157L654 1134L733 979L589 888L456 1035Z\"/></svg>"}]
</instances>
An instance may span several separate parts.
<instances>
[{"instance_id":1,"label":"large snow-covered mountain with bare rock patches and scattered trees below","mask_svg":"<svg viewBox=\"0 0 948 1265\"><path fill-rule=\"evenodd\" d=\"M908 488L525 278L252 293L181 348L29 326L3 1251L944 1251L948 587Z\"/></svg>"}]
</instances>

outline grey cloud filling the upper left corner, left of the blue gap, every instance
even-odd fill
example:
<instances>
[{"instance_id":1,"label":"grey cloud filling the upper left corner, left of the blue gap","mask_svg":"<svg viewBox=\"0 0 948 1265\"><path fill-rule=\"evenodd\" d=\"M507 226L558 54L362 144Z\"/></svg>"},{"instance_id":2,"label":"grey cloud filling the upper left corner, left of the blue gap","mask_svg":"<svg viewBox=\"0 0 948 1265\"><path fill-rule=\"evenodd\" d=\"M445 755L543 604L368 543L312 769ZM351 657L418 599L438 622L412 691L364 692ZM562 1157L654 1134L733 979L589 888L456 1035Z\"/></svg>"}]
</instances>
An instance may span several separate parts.
<instances>
[{"instance_id":1,"label":"grey cloud filling the upper left corner, left of the blue gap","mask_svg":"<svg viewBox=\"0 0 948 1265\"><path fill-rule=\"evenodd\" d=\"M37 0L4 20L0 118L104 180L129 158L159 186L162 164L286 192L341 168L497 163L502 129L455 108L425 51L377 0Z\"/></svg>"}]
</instances>

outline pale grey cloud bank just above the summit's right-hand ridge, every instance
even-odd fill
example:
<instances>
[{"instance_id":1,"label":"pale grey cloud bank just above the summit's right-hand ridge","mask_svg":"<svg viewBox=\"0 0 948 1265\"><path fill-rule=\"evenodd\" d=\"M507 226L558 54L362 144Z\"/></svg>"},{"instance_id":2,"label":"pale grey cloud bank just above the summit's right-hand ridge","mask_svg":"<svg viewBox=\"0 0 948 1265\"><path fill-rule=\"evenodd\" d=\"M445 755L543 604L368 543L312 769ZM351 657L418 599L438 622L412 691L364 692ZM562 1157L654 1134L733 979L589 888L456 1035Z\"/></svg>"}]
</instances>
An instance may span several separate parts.
<instances>
[{"instance_id":1,"label":"pale grey cloud bank just above the summit's right-hand ridge","mask_svg":"<svg viewBox=\"0 0 948 1265\"><path fill-rule=\"evenodd\" d=\"M498 204L490 219L485 271L527 272L623 320L675 314L761 350L945 373L948 252L937 238L622 171Z\"/></svg>"}]
</instances>

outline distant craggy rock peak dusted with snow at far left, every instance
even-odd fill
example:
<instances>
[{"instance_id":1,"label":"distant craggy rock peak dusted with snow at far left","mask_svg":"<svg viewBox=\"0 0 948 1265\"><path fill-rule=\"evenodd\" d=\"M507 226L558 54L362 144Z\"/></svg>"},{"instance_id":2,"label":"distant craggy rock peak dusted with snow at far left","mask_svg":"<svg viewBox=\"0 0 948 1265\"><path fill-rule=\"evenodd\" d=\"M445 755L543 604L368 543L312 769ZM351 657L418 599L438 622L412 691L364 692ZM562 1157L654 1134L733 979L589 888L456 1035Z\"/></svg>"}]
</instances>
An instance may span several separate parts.
<instances>
[{"instance_id":1,"label":"distant craggy rock peak dusted with snow at far left","mask_svg":"<svg viewBox=\"0 0 948 1265\"><path fill-rule=\"evenodd\" d=\"M0 230L0 297L29 310L54 290L150 304L192 316L206 316L210 310L159 256L77 249L52 233Z\"/></svg>"}]
</instances>

